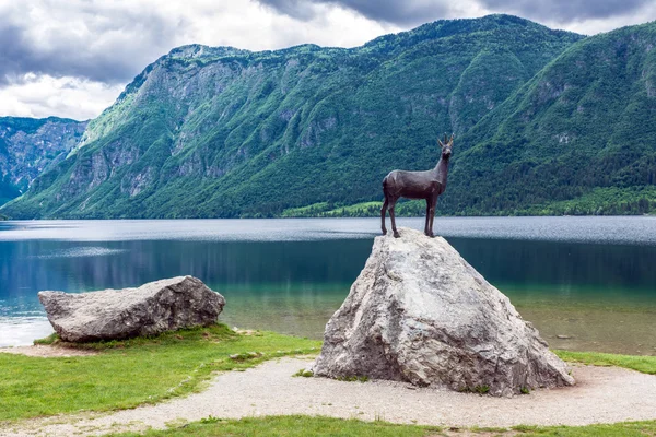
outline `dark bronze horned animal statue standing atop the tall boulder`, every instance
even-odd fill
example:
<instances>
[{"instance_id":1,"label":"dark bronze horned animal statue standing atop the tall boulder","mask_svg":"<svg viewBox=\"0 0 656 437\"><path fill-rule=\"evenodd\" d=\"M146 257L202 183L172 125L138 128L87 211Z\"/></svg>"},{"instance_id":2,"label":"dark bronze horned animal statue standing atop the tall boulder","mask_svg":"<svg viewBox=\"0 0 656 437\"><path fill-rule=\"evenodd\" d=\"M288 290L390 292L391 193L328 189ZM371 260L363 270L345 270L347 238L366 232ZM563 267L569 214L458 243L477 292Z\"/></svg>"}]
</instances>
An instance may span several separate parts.
<instances>
[{"instance_id":1,"label":"dark bronze horned animal statue standing atop the tall boulder","mask_svg":"<svg viewBox=\"0 0 656 437\"><path fill-rule=\"evenodd\" d=\"M394 170L390 172L389 175L385 176L385 179L383 179L383 193L385 194L385 202L383 203L383 209L380 210L383 235L387 234L387 228L385 227L385 212L389 208L391 231L394 232L395 238L400 237L399 232L396 228L394 205L399 198L407 198L424 199L426 201L426 224L424 226L424 234L426 234L429 237L433 237L435 205L437 204L437 197L446 189L448 160L452 155L454 135L452 134L450 139L444 135L444 142L437 140L437 143L442 147L442 155L440 157L440 162L432 170Z\"/></svg>"}]
</instances>

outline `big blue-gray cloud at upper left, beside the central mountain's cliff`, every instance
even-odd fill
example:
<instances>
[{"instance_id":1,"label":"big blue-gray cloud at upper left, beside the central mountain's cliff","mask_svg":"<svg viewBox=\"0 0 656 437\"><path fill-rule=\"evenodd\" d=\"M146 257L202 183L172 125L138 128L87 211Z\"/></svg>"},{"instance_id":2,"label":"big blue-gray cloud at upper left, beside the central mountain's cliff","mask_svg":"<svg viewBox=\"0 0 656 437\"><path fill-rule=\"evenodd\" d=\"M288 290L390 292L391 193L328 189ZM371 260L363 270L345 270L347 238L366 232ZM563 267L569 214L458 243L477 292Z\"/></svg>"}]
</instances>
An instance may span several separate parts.
<instances>
[{"instance_id":1,"label":"big blue-gray cloud at upper left, beside the central mountain's cliff","mask_svg":"<svg viewBox=\"0 0 656 437\"><path fill-rule=\"evenodd\" d=\"M85 29L80 33L66 32L66 27L35 32L21 23L17 12L2 12L0 86L20 83L26 73L125 83L174 43L171 23L156 14L80 11Z\"/></svg>"}]
</instances>

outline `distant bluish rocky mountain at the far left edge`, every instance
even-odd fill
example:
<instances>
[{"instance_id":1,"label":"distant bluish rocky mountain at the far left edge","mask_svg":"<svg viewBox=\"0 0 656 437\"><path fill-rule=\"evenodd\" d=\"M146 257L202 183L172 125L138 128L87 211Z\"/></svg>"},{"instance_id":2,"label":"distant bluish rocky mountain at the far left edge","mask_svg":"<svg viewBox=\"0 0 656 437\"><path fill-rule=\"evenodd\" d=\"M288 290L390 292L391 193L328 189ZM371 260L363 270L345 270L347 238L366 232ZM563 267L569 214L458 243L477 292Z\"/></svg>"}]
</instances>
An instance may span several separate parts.
<instances>
[{"instance_id":1,"label":"distant bluish rocky mountain at the far left edge","mask_svg":"<svg viewBox=\"0 0 656 437\"><path fill-rule=\"evenodd\" d=\"M61 162L81 139L85 121L0 117L0 204Z\"/></svg>"}]
</instances>

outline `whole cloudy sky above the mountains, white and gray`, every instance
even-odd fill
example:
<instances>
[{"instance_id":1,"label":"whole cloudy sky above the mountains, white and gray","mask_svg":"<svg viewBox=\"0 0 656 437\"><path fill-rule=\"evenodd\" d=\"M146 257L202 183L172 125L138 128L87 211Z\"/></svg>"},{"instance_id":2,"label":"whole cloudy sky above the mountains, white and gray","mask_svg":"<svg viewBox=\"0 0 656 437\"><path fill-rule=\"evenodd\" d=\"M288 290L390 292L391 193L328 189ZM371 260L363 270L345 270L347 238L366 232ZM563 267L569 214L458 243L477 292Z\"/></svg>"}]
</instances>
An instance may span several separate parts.
<instances>
[{"instance_id":1,"label":"whole cloudy sky above the mountains, white and gray","mask_svg":"<svg viewBox=\"0 0 656 437\"><path fill-rule=\"evenodd\" d=\"M184 44L353 47L422 23L509 13L596 34L656 20L653 0L0 0L0 116L96 117Z\"/></svg>"}]
</instances>

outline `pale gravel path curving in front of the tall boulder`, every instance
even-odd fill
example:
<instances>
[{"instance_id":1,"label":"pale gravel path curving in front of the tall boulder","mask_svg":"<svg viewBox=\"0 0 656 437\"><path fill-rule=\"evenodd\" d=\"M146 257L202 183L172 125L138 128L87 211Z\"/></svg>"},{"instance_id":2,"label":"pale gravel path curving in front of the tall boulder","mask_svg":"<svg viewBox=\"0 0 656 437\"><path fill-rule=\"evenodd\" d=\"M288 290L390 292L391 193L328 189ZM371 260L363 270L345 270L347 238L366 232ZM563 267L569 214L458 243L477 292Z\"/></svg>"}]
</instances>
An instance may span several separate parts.
<instances>
[{"instance_id":1,"label":"pale gravel path curving in front of the tall boulder","mask_svg":"<svg viewBox=\"0 0 656 437\"><path fill-rule=\"evenodd\" d=\"M218 375L201 393L109 414L25 421L0 436L98 435L167 424L277 414L326 415L446 426L587 425L656 418L656 376L618 367L574 367L577 385L512 399L417 389L389 381L292 377L309 359L282 358Z\"/></svg>"}]
</instances>

